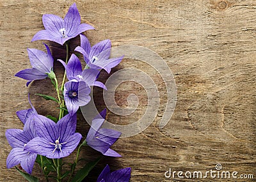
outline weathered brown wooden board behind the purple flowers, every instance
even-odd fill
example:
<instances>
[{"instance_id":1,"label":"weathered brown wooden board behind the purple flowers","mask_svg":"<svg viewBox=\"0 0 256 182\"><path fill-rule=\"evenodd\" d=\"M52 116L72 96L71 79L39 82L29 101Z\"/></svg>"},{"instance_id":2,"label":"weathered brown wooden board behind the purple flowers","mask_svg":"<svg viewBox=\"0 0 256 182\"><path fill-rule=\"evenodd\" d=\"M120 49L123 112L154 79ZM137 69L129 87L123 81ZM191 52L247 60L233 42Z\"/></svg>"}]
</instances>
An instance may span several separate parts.
<instances>
[{"instance_id":1,"label":"weathered brown wooden board behind the purple flowers","mask_svg":"<svg viewBox=\"0 0 256 182\"><path fill-rule=\"evenodd\" d=\"M58 115L57 109L50 108L51 102L33 95L55 94L48 79L26 87L26 81L14 75L30 67L26 48L45 50L41 41L31 43L33 35L43 29L42 15L53 13L64 17L72 3L74 1L0 1L0 181L24 181L15 169L6 169L6 157L11 148L4 132L8 128L23 127L15 112L29 108L28 92L40 114ZM94 31L86 32L92 44L109 38L113 46L132 44L154 50L170 66L177 84L175 112L168 125L159 129L166 89L154 71L148 73L154 76L152 79L159 88L161 107L157 118L144 132L118 140L112 148L123 157L104 158L87 181L95 181L106 163L112 170L132 167L131 181L173 181L164 178L164 172L169 168L204 172L214 170L217 163L221 163L225 171L253 174L254 179L195 181L256 179L255 0L76 3L81 22L95 27ZM64 47L45 42L50 45L54 58L64 59ZM74 47L79 45L79 38L72 43ZM129 67L152 69L140 61L124 59L113 72ZM54 69L63 72L58 63ZM95 100L102 109L102 91L95 89L95 93ZM131 93L140 99L138 110L122 119L109 113L108 120L129 123L141 117L147 107L147 95L140 85L134 82L122 84L116 91L116 102L125 107L126 98ZM86 135L88 125L81 114L79 118L77 130ZM88 155L93 154L92 149L83 149L84 158L90 159ZM73 158L74 155L70 156L70 160ZM33 174L42 177L40 172L35 165Z\"/></svg>"}]
</instances>

